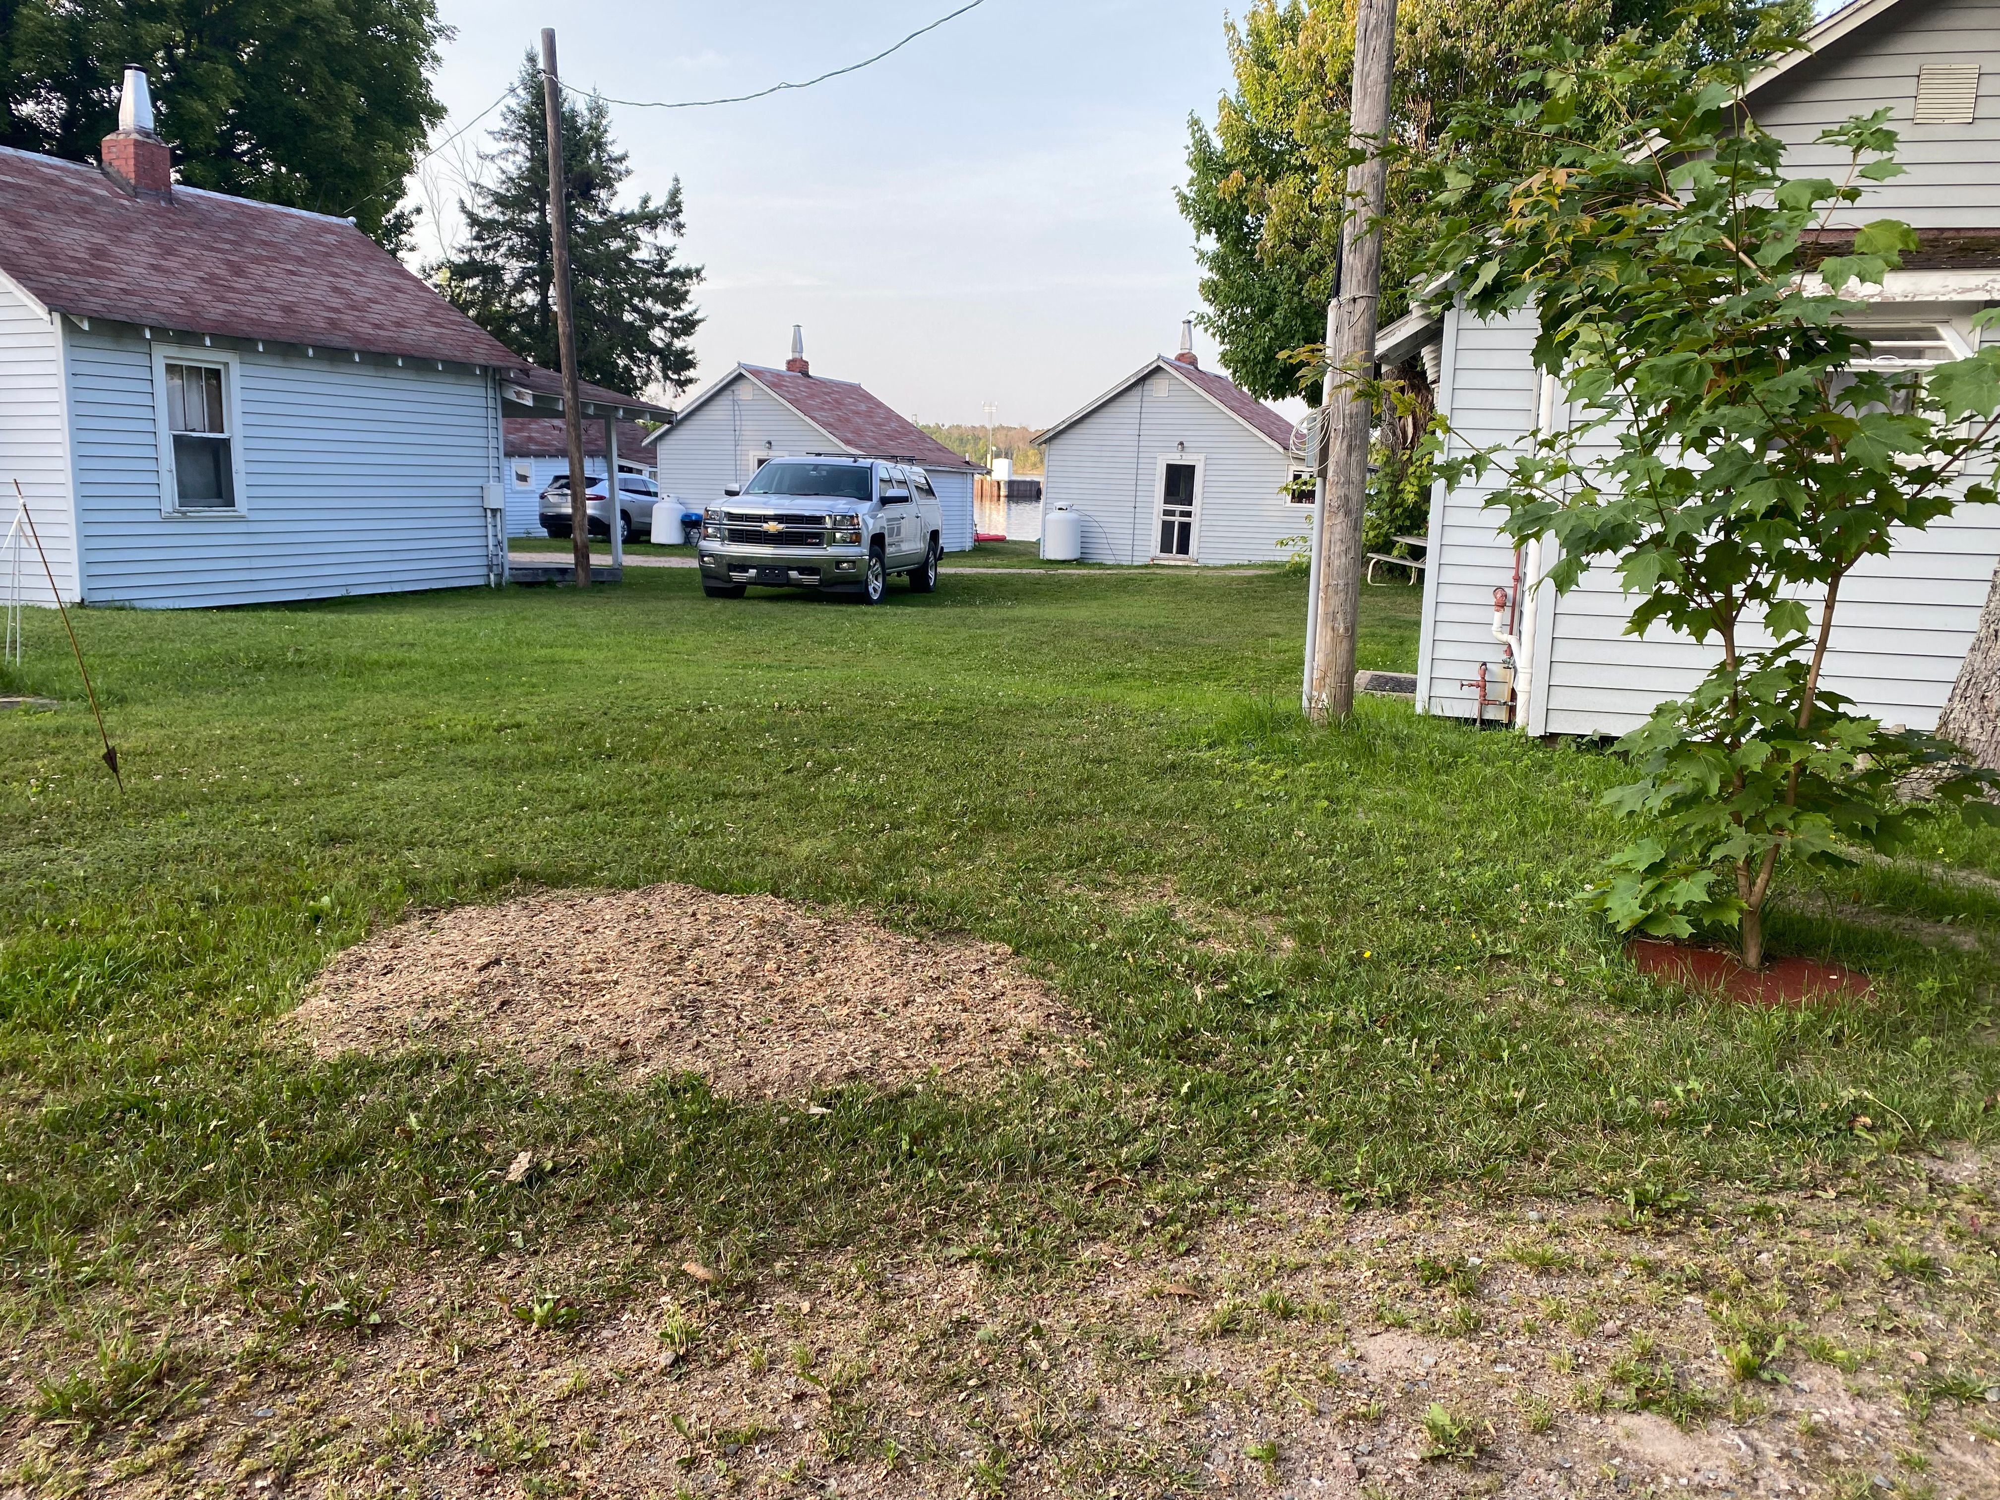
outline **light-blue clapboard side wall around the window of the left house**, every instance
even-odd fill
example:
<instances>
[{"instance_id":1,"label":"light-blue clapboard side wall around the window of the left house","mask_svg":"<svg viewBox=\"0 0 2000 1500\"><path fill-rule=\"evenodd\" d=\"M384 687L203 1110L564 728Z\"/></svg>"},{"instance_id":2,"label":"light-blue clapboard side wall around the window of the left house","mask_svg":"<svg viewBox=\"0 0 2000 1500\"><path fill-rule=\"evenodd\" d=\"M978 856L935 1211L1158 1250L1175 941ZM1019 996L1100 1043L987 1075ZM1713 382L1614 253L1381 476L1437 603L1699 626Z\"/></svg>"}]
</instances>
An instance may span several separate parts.
<instances>
[{"instance_id":1,"label":"light-blue clapboard side wall around the window of the left house","mask_svg":"<svg viewBox=\"0 0 2000 1500\"><path fill-rule=\"evenodd\" d=\"M68 328L92 604L184 608L486 582L484 486L500 460L490 374L236 354L246 514L162 516L152 344L138 330Z\"/></svg>"}]
</instances>

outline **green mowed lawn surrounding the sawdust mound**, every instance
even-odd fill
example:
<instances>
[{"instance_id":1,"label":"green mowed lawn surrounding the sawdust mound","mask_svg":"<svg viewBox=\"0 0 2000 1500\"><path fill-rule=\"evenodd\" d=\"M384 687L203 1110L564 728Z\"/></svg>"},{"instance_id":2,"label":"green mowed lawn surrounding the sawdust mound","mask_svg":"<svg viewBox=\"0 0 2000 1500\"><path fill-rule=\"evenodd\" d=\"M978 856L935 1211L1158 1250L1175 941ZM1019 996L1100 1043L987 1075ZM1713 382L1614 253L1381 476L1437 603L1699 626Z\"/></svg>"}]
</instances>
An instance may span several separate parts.
<instances>
[{"instance_id":1,"label":"green mowed lawn surrounding the sawdust mound","mask_svg":"<svg viewBox=\"0 0 2000 1500\"><path fill-rule=\"evenodd\" d=\"M1638 980L1568 906L1618 838L1616 762L1386 700L1310 732L1302 606L1278 570L954 576L878 610L634 570L82 612L122 796L32 616L0 686L64 702L0 714L8 1314L194 1266L274 1306L578 1236L1036 1266L1138 1232L1106 1180L1172 1234L1262 1178L1644 1204L1990 1138L1984 952L1786 916L1780 950L1862 962L1878 998ZM1368 590L1362 666L1414 664L1416 608ZM1080 1062L800 1116L472 1054L316 1062L270 1028L412 910L656 880L1012 944L1088 1022ZM2000 930L1914 868L1832 894ZM554 1170L506 1186L518 1150Z\"/></svg>"}]
</instances>

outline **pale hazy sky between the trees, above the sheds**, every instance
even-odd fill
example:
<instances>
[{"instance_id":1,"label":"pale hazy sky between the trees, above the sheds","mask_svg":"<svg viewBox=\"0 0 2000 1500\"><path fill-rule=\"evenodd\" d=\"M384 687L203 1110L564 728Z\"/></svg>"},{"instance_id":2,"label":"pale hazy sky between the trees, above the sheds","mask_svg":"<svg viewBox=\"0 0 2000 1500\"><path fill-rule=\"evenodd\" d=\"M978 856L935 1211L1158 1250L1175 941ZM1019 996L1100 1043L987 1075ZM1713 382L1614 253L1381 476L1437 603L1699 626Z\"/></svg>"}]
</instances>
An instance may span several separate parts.
<instances>
[{"instance_id":1,"label":"pale hazy sky between the trees, above the sheds","mask_svg":"<svg viewBox=\"0 0 2000 1500\"><path fill-rule=\"evenodd\" d=\"M742 94L856 62L960 2L442 0L458 38L438 96L458 128L546 24L576 86ZM736 360L782 364L798 322L816 374L904 414L980 422L994 402L996 420L1040 426L1172 354L1196 306L1172 190L1188 112L1212 118L1228 86L1222 20L1220 0L984 0L804 92L614 108L630 190L680 174L686 192L684 254L708 272L696 388ZM1196 350L1214 368L1200 332Z\"/></svg>"}]
</instances>

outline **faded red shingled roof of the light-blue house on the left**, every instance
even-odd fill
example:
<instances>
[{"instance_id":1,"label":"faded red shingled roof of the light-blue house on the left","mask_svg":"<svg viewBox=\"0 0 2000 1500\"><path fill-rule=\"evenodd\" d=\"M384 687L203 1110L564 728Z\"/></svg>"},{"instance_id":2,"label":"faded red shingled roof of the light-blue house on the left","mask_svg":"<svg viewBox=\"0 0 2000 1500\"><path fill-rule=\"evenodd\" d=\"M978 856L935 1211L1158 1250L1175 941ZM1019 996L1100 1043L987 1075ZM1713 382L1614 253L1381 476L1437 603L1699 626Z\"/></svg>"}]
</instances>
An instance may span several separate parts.
<instances>
[{"instance_id":1,"label":"faded red shingled roof of the light-blue house on the left","mask_svg":"<svg viewBox=\"0 0 2000 1500\"><path fill-rule=\"evenodd\" d=\"M42 304L176 332L518 370L526 360L340 218L0 148L0 270Z\"/></svg>"}]
</instances>

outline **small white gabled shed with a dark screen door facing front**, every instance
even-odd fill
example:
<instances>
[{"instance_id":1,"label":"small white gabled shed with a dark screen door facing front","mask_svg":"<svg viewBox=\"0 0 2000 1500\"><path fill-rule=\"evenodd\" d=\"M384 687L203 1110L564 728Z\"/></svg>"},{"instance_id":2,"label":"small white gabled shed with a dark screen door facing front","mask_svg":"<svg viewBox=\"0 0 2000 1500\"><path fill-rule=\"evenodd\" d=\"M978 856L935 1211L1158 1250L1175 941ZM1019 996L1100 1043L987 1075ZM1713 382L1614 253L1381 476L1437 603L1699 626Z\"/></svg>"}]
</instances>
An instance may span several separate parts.
<instances>
[{"instance_id":1,"label":"small white gabled shed with a dark screen door facing front","mask_svg":"<svg viewBox=\"0 0 2000 1500\"><path fill-rule=\"evenodd\" d=\"M1038 432L1042 508L1082 522L1086 562L1282 562L1306 546L1312 492L1292 424L1202 370L1182 332L1094 402Z\"/></svg>"}]
</instances>

